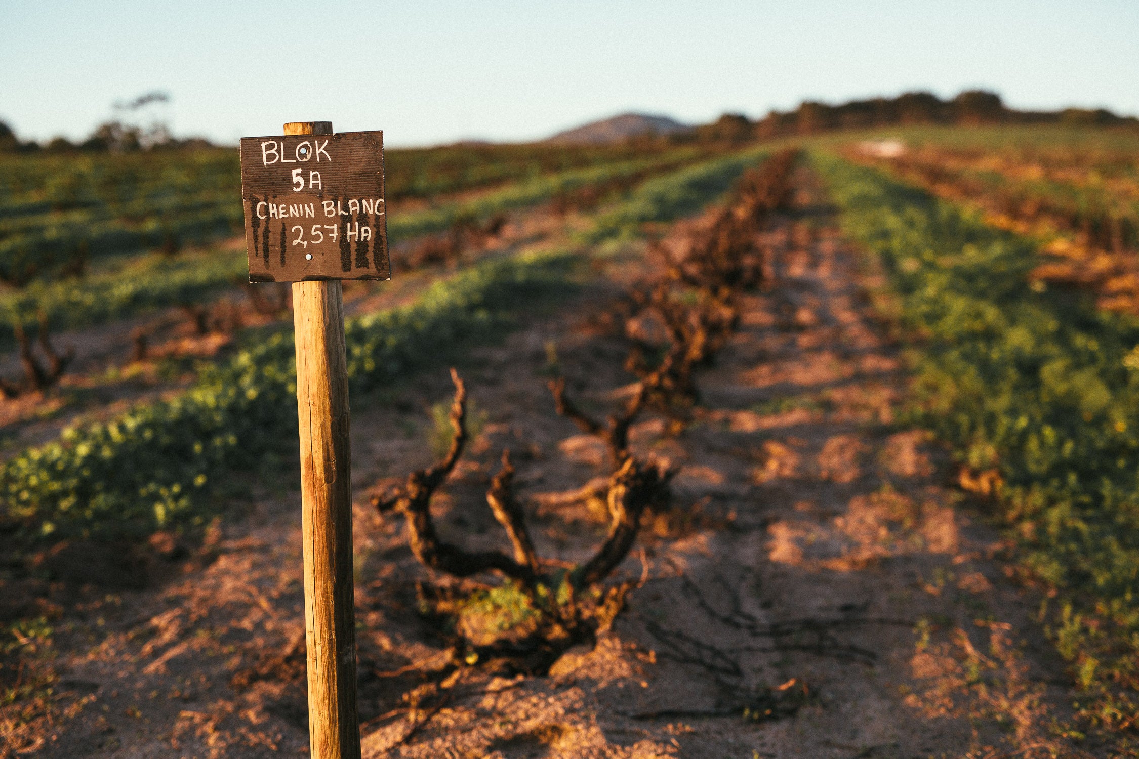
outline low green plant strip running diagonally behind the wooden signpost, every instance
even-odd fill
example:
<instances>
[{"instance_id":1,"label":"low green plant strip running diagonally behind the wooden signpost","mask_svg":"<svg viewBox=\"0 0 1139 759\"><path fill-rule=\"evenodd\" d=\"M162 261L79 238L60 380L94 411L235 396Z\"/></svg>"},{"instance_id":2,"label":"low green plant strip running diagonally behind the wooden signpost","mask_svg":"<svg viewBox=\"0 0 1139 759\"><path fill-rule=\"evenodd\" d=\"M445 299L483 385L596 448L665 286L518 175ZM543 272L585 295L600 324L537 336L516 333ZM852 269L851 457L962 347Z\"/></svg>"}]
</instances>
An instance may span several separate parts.
<instances>
[{"instance_id":1,"label":"low green plant strip running diagonally behind the wooden signpost","mask_svg":"<svg viewBox=\"0 0 1139 759\"><path fill-rule=\"evenodd\" d=\"M611 234L638 220L690 213L728 189L762 154L707 162L645 183L628 213L611 212ZM620 211L620 209L618 209ZM621 220L615 224L612 220ZM596 237L596 236L595 236ZM353 391L368 390L427 362L487 339L524 305L564 291L576 256L567 251L490 261L431 287L404 307L346 324ZM0 523L25 536L145 535L202 522L223 475L269 465L293 439L293 344L279 332L206 369L188 391L141 404L107 422L68 428L60 438L0 469Z\"/></svg>"}]
</instances>

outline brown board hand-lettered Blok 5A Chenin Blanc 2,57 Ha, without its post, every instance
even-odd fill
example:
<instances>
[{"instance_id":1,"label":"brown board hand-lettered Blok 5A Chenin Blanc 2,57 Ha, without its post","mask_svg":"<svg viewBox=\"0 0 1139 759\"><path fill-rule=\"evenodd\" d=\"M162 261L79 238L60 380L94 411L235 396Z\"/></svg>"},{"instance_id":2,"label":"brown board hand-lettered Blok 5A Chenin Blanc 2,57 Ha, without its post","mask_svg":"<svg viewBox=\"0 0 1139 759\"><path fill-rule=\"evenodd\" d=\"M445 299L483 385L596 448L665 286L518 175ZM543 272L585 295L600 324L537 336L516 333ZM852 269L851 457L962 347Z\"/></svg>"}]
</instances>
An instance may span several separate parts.
<instances>
[{"instance_id":1,"label":"brown board hand-lettered Blok 5A Chenin Blanc 2,57 Ha, without its post","mask_svg":"<svg viewBox=\"0 0 1139 759\"><path fill-rule=\"evenodd\" d=\"M241 138L251 282L392 279L384 133Z\"/></svg>"}]
</instances>

